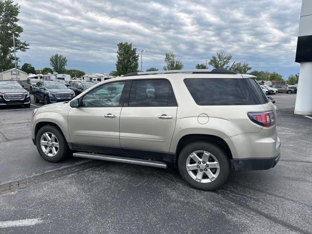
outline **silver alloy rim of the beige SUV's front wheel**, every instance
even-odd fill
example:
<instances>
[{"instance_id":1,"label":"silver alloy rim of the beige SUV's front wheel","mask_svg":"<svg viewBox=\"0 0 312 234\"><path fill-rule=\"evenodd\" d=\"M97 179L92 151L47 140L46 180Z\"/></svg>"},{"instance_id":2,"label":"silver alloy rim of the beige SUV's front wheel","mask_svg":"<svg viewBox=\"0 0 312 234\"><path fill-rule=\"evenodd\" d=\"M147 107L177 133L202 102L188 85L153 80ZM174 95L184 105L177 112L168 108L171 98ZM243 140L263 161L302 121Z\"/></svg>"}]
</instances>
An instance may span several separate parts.
<instances>
[{"instance_id":1,"label":"silver alloy rim of the beige SUV's front wheel","mask_svg":"<svg viewBox=\"0 0 312 234\"><path fill-rule=\"evenodd\" d=\"M40 138L40 146L46 156L53 157L59 152L59 140L50 132L42 134Z\"/></svg>"}]
</instances>

